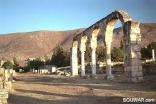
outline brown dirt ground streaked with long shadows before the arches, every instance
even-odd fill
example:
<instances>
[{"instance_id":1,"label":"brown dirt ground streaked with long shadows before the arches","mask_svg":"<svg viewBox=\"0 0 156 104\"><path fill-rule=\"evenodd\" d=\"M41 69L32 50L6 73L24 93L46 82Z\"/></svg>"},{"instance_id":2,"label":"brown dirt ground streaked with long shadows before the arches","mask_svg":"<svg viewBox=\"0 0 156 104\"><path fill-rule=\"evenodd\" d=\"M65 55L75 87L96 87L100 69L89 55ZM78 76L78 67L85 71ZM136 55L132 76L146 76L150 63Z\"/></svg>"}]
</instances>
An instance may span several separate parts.
<instances>
[{"instance_id":1,"label":"brown dirt ground streaked with long shadows before the arches","mask_svg":"<svg viewBox=\"0 0 156 104\"><path fill-rule=\"evenodd\" d=\"M156 75L144 76L144 82L122 82L123 75L115 80L17 73L9 104L113 104L123 98L156 100ZM156 102L155 102L156 103ZM150 103L151 104L151 103Z\"/></svg>"}]
</instances>

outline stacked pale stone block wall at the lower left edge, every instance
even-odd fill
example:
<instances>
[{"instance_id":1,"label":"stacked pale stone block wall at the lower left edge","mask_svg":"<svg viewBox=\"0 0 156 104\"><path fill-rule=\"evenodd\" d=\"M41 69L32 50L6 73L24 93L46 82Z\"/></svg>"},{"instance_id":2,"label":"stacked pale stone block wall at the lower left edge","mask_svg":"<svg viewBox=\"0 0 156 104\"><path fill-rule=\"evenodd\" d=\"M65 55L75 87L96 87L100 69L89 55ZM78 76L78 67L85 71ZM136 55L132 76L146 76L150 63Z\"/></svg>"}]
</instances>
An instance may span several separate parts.
<instances>
[{"instance_id":1,"label":"stacked pale stone block wall at the lower left edge","mask_svg":"<svg viewBox=\"0 0 156 104\"><path fill-rule=\"evenodd\" d=\"M7 104L15 70L0 68L0 104Z\"/></svg>"}]
</instances>

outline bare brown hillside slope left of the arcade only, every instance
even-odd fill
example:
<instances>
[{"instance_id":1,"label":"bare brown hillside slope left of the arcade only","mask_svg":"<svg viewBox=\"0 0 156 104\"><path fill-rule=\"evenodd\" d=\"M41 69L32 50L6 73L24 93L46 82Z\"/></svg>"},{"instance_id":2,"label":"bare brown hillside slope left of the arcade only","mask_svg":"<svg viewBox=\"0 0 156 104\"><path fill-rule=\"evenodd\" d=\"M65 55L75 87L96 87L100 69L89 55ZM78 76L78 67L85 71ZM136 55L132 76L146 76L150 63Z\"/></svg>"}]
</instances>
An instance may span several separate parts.
<instances>
[{"instance_id":1,"label":"bare brown hillside slope left of the arcade only","mask_svg":"<svg viewBox=\"0 0 156 104\"><path fill-rule=\"evenodd\" d=\"M74 36L81 29L69 31L35 31L0 35L0 59L17 60L24 64L24 60L33 57L51 57L56 45L62 44L69 37Z\"/></svg>"}]
</instances>

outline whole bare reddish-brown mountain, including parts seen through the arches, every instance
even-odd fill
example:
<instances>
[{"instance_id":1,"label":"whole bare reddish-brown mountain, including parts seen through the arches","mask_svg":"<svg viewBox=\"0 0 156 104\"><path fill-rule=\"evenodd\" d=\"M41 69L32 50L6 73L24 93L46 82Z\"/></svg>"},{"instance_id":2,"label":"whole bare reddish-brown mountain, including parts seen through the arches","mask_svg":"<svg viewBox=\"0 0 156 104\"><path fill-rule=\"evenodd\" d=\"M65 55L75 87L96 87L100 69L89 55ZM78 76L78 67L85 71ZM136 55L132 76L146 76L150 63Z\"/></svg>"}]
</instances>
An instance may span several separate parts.
<instances>
[{"instance_id":1,"label":"whole bare reddish-brown mountain, including parts seen through the arches","mask_svg":"<svg viewBox=\"0 0 156 104\"><path fill-rule=\"evenodd\" d=\"M140 24L142 35L142 47L152 41L156 41L156 23ZM12 33L0 35L0 59L12 60L16 57L22 64L28 58L52 56L56 45L63 45L66 49L71 47L72 39L83 29L69 31L34 31L25 33ZM119 47L123 36L122 28L114 30L112 47ZM98 43L101 45L102 36L98 36Z\"/></svg>"}]
</instances>

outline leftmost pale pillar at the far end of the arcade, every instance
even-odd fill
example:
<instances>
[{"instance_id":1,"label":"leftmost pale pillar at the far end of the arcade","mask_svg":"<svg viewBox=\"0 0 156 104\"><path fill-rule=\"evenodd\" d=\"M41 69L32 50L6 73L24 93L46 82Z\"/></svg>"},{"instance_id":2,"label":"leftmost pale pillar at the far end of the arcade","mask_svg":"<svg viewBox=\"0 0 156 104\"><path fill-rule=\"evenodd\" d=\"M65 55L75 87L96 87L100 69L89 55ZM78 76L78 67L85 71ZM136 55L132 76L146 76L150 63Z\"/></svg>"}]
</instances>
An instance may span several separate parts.
<instances>
[{"instance_id":1,"label":"leftmost pale pillar at the far end of the arcade","mask_svg":"<svg viewBox=\"0 0 156 104\"><path fill-rule=\"evenodd\" d=\"M77 47L72 47L71 49L70 62L72 75L73 76L78 75Z\"/></svg>"}]
</instances>

